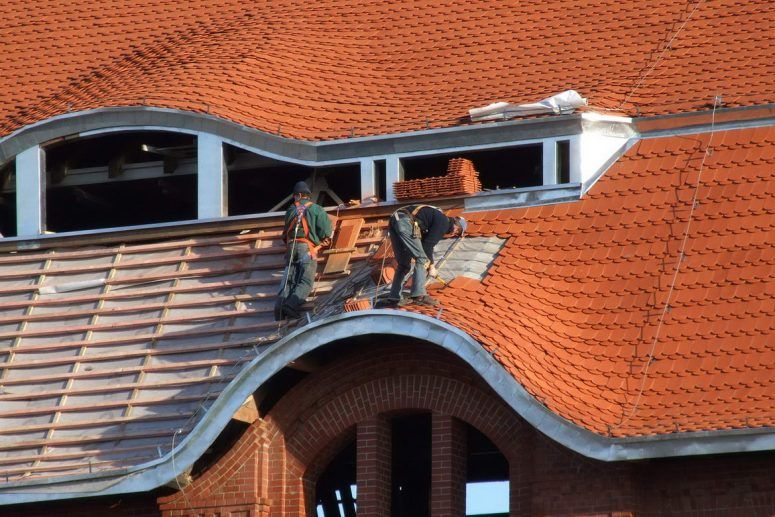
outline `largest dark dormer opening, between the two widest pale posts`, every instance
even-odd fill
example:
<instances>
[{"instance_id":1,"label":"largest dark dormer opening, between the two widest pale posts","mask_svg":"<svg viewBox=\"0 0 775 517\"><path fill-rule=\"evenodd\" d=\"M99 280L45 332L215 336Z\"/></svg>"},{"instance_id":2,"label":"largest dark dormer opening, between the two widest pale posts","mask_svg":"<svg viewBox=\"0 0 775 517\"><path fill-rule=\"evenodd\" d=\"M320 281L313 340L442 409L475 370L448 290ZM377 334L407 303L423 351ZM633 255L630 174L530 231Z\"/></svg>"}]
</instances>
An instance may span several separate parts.
<instances>
[{"instance_id":1,"label":"largest dark dormer opening, between the two widest pale posts","mask_svg":"<svg viewBox=\"0 0 775 517\"><path fill-rule=\"evenodd\" d=\"M69 232L195 219L195 137L138 131L45 146L46 229Z\"/></svg>"}]
</instances>

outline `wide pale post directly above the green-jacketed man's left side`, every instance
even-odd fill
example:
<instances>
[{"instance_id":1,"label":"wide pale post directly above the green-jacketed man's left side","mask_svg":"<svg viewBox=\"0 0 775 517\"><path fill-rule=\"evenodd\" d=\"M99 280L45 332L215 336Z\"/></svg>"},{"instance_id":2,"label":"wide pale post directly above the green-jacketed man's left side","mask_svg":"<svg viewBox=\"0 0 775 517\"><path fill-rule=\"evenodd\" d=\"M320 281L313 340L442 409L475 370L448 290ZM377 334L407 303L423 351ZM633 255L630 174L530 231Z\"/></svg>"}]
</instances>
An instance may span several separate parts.
<instances>
[{"instance_id":1,"label":"wide pale post directly above the green-jacketed man's left side","mask_svg":"<svg viewBox=\"0 0 775 517\"><path fill-rule=\"evenodd\" d=\"M197 216L199 219L229 214L228 178L223 140L200 133L197 137Z\"/></svg>"}]
</instances>

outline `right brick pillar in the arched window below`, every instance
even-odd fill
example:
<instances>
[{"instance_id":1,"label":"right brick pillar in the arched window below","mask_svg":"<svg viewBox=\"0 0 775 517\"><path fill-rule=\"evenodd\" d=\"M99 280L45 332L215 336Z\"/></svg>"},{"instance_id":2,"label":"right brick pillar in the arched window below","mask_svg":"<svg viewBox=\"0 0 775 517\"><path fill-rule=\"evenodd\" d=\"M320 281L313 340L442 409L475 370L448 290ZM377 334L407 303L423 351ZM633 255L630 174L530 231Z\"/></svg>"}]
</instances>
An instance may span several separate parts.
<instances>
[{"instance_id":1,"label":"right brick pillar in the arched window below","mask_svg":"<svg viewBox=\"0 0 775 517\"><path fill-rule=\"evenodd\" d=\"M463 423L433 413L431 424L431 515L466 514L466 431Z\"/></svg>"}]
</instances>

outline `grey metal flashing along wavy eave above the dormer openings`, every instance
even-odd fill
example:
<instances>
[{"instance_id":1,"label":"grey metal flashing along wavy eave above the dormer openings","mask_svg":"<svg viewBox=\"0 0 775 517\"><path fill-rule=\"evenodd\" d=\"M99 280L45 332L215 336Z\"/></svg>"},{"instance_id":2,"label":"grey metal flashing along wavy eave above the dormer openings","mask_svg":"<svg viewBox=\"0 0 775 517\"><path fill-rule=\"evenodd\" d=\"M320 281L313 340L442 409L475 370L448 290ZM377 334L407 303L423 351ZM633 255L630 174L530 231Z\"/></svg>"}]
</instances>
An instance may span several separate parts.
<instances>
[{"instance_id":1,"label":"grey metal flashing along wavy eave above the dormer openings","mask_svg":"<svg viewBox=\"0 0 775 517\"><path fill-rule=\"evenodd\" d=\"M360 158L430 152L505 144L530 139L577 134L581 115L556 115L396 133L329 141L304 141L285 138L217 118L168 108L114 107L58 115L30 124L0 138L0 163L33 145L45 144L73 134L95 135L101 132L159 130L185 133L210 133L225 142L300 164L333 164Z\"/></svg>"}]
</instances>

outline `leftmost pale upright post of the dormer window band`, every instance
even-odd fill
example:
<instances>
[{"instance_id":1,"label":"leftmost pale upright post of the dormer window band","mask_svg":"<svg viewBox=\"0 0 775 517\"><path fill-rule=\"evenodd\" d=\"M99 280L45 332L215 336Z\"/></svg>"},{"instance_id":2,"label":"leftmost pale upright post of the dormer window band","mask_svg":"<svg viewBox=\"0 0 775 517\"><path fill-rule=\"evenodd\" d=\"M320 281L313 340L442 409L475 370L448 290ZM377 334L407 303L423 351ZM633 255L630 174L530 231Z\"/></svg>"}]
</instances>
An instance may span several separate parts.
<instances>
[{"instance_id":1,"label":"leftmost pale upright post of the dormer window band","mask_svg":"<svg viewBox=\"0 0 775 517\"><path fill-rule=\"evenodd\" d=\"M16 156L16 235L46 231L46 152L30 147Z\"/></svg>"}]
</instances>

